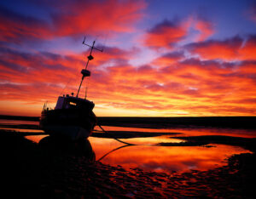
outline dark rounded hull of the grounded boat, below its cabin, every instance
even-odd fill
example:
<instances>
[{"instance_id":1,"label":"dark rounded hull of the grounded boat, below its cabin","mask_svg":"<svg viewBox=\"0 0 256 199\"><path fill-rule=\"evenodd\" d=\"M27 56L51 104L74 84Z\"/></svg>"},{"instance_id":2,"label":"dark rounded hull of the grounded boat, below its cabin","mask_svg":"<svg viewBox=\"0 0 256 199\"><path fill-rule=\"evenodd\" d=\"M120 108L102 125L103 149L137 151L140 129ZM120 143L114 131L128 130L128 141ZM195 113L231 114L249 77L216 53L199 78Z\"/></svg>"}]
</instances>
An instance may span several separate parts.
<instances>
[{"instance_id":1,"label":"dark rounded hull of the grounded boat, below its cabin","mask_svg":"<svg viewBox=\"0 0 256 199\"><path fill-rule=\"evenodd\" d=\"M96 126L93 111L61 109L42 111L40 128L46 134L68 139L86 139Z\"/></svg>"}]
</instances>

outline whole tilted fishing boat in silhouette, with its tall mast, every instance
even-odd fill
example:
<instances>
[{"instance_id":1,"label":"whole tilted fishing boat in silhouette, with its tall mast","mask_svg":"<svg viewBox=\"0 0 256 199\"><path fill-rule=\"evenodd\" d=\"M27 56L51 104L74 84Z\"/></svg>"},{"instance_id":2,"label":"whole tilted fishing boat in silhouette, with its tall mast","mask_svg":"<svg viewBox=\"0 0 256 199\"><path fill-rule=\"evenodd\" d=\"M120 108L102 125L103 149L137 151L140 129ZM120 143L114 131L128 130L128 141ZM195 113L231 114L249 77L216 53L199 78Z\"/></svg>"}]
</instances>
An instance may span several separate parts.
<instances>
[{"instance_id":1,"label":"whole tilted fishing boat in silhouette, with its tall mast","mask_svg":"<svg viewBox=\"0 0 256 199\"><path fill-rule=\"evenodd\" d=\"M85 42L85 37L84 37ZM93 112L95 104L85 98L79 98L79 91L85 77L90 77L90 71L87 70L89 61L94 57L91 55L93 49L101 49L95 47L95 42L92 45L84 43L90 47L90 54L87 57L87 64L85 69L82 69L82 79L79 85L79 90L76 96L64 94L58 97L55 109L49 109L47 104L44 104L41 113L39 127L44 130L46 134L55 137L68 138L72 140L86 139L91 134L96 126L96 115Z\"/></svg>"}]
</instances>

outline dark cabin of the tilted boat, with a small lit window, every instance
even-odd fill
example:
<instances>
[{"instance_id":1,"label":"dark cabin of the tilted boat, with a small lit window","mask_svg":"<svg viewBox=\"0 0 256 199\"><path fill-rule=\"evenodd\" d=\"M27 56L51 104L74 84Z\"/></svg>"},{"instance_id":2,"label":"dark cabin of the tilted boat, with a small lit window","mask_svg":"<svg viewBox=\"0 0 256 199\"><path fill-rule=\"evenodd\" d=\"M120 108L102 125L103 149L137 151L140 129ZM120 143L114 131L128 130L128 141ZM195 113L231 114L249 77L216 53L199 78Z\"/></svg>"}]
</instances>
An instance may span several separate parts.
<instances>
[{"instance_id":1,"label":"dark cabin of the tilted boat, with a small lit window","mask_svg":"<svg viewBox=\"0 0 256 199\"><path fill-rule=\"evenodd\" d=\"M94 103L87 99L81 99L78 97L69 96L68 94L65 96L60 96L58 98L55 109L73 109L73 108L81 108L81 109L90 109L94 108Z\"/></svg>"}]
</instances>

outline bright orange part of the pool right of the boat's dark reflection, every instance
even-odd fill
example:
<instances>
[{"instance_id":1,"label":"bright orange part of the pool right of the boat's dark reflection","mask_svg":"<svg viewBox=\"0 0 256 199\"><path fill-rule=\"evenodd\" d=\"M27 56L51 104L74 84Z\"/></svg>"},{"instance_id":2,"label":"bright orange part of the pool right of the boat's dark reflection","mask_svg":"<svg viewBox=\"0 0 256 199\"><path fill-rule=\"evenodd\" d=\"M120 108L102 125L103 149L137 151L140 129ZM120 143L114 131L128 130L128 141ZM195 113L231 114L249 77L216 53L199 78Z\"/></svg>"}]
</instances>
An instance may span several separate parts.
<instances>
[{"instance_id":1,"label":"bright orange part of the pool right of the boat's dark reflection","mask_svg":"<svg viewBox=\"0 0 256 199\"><path fill-rule=\"evenodd\" d=\"M159 138L160 139L160 138ZM142 168L155 172L185 172L189 169L208 170L226 165L224 160L234 154L250 152L231 145L202 146L156 146L131 145L121 147L111 139L90 138L96 151L96 159L104 156L105 151L119 150L105 156L102 163L129 168ZM102 145L104 143L104 145Z\"/></svg>"}]
</instances>

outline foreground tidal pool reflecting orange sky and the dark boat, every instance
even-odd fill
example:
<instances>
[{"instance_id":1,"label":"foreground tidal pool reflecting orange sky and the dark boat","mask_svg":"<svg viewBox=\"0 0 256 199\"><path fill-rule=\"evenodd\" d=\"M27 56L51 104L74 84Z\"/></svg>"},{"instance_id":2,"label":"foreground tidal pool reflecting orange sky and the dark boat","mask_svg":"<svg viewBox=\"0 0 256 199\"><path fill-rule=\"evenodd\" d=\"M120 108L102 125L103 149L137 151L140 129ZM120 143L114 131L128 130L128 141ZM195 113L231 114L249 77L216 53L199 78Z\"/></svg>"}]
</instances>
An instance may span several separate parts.
<instances>
[{"instance_id":1,"label":"foreground tidal pool reflecting orange sky and the dark boat","mask_svg":"<svg viewBox=\"0 0 256 199\"><path fill-rule=\"evenodd\" d=\"M42 136L39 140L39 136ZM26 136L51 153L85 156L90 161L99 160L125 169L142 168L155 172L185 172L189 169L208 170L226 165L224 160L234 154L250 152L232 145L160 146L164 143L180 143L181 139L167 135L151 138L123 139L135 145L124 145L115 139L90 137L79 142L53 139L49 136ZM91 145L90 145L91 143Z\"/></svg>"}]
</instances>

